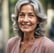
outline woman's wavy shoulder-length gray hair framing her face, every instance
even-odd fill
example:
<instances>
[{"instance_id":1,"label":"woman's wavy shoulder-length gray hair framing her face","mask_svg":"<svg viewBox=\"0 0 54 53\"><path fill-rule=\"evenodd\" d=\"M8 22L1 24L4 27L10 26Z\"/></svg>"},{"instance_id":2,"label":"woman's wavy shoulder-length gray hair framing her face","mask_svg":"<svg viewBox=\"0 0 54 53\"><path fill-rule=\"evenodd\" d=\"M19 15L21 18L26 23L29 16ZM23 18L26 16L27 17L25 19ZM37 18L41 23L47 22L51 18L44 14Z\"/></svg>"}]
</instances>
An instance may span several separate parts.
<instances>
[{"instance_id":1,"label":"woman's wavy shoulder-length gray hair framing her face","mask_svg":"<svg viewBox=\"0 0 54 53\"><path fill-rule=\"evenodd\" d=\"M35 13L38 17L39 24L37 24L37 28L35 30L35 34L36 34L35 37L43 36L44 33L45 33L44 23L46 21L46 15L44 13L43 7L42 7L39 0L19 0L16 3L15 16L13 18L13 22L14 22L13 23L13 29L14 29L14 31L16 32L17 35L23 37L23 32L19 29L17 20L18 20L18 14L19 14L20 8L24 4L31 4L34 7L34 11L35 11Z\"/></svg>"}]
</instances>

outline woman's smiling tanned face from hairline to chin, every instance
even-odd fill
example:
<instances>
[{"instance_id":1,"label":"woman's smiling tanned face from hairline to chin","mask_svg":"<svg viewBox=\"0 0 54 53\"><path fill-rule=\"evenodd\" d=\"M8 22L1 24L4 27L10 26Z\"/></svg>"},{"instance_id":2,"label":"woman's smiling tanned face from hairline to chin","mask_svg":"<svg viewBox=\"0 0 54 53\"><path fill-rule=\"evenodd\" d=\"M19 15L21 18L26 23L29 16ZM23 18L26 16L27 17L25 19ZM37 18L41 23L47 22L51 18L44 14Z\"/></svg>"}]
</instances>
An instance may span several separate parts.
<instances>
[{"instance_id":1,"label":"woman's smiling tanned face from hairline to chin","mask_svg":"<svg viewBox=\"0 0 54 53\"><path fill-rule=\"evenodd\" d=\"M18 24L22 32L34 32L38 20L32 5L23 5L21 7Z\"/></svg>"}]
</instances>

